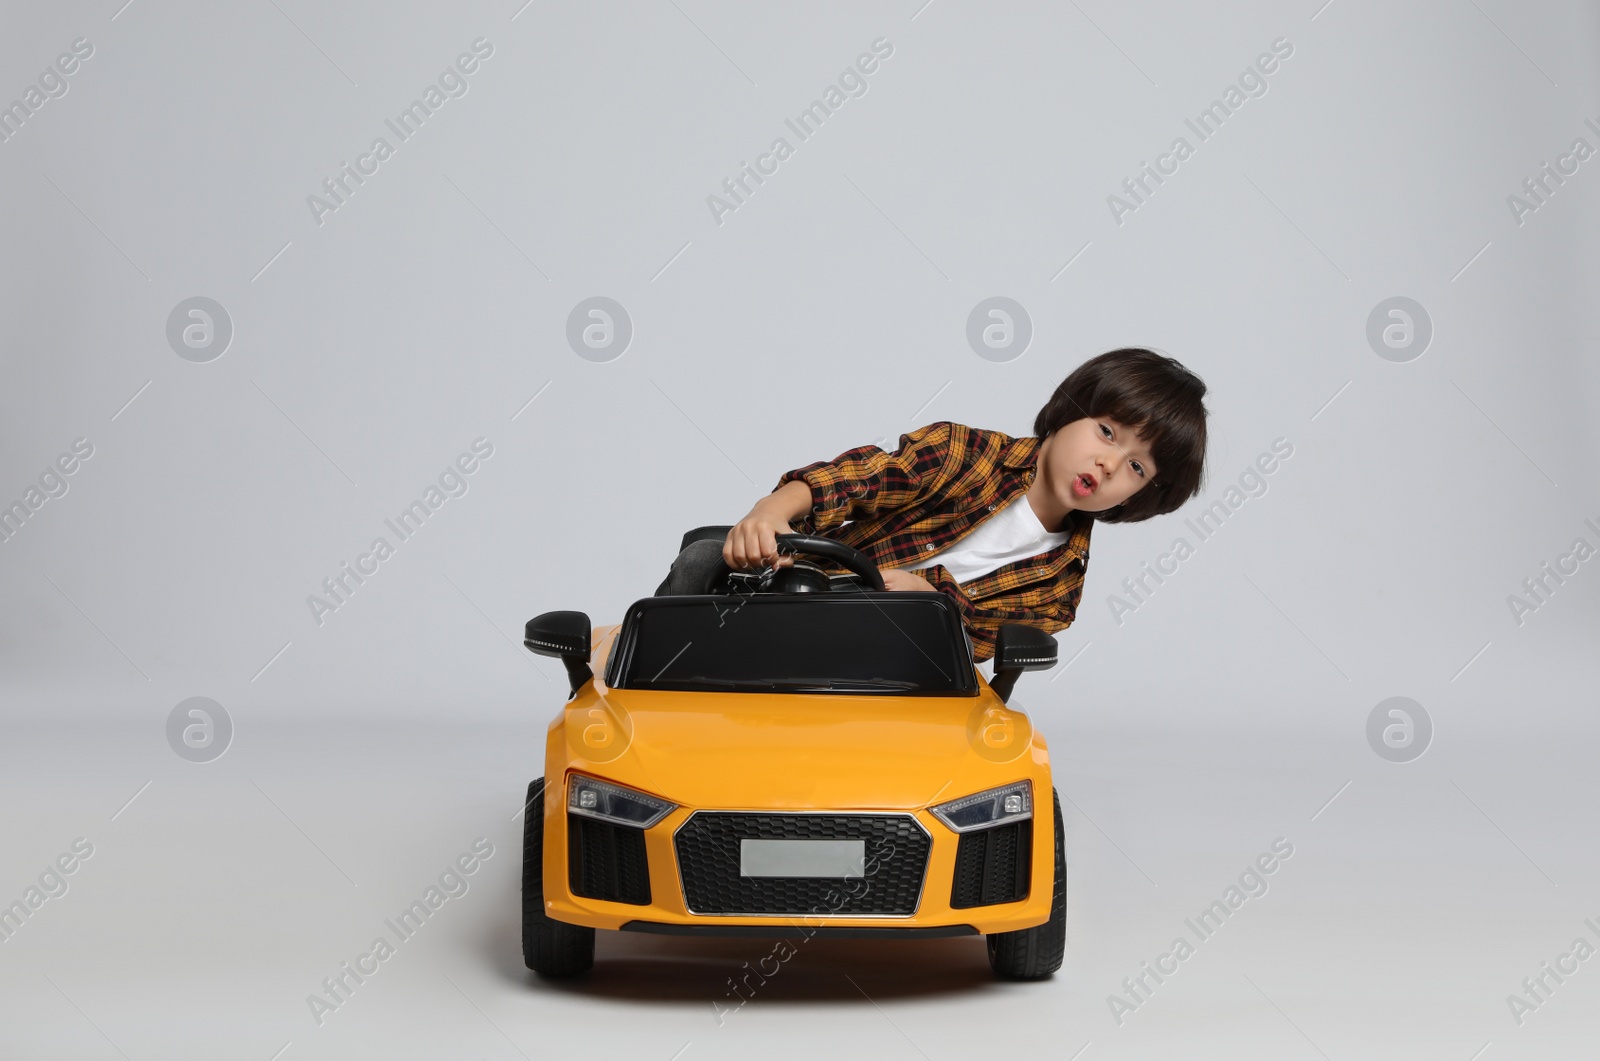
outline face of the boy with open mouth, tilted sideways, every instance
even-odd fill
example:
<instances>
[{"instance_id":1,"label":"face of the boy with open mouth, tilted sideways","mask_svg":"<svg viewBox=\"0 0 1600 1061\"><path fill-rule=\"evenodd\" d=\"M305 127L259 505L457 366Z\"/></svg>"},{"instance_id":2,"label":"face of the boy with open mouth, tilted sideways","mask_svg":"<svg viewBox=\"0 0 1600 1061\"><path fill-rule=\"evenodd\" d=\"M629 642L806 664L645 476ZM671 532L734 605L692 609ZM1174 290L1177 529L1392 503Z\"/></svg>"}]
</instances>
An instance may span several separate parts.
<instances>
[{"instance_id":1,"label":"face of the boy with open mouth, tilted sideways","mask_svg":"<svg viewBox=\"0 0 1600 1061\"><path fill-rule=\"evenodd\" d=\"M1067 509L1104 512L1155 478L1146 440L1109 416L1083 416L1050 432L1038 448L1038 475Z\"/></svg>"}]
</instances>

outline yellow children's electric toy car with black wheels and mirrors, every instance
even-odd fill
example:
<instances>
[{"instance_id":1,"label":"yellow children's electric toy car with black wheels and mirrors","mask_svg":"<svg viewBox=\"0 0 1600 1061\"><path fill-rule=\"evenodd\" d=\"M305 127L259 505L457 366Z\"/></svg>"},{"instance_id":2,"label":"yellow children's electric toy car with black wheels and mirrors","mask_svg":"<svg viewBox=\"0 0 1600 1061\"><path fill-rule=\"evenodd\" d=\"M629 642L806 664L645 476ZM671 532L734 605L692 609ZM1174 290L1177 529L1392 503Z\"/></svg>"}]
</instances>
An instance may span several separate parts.
<instances>
[{"instance_id":1,"label":"yellow children's electric toy car with black wheels and mirrors","mask_svg":"<svg viewBox=\"0 0 1600 1061\"><path fill-rule=\"evenodd\" d=\"M1022 671L1056 664L1056 640L1002 626L986 682L946 595L886 592L827 538L778 546L850 575L797 559L646 597L618 626L528 621L525 645L571 682L525 805L528 968L582 973L608 928L984 935L998 976L1050 976L1066 949L1061 800L1045 739L1006 699Z\"/></svg>"}]
</instances>

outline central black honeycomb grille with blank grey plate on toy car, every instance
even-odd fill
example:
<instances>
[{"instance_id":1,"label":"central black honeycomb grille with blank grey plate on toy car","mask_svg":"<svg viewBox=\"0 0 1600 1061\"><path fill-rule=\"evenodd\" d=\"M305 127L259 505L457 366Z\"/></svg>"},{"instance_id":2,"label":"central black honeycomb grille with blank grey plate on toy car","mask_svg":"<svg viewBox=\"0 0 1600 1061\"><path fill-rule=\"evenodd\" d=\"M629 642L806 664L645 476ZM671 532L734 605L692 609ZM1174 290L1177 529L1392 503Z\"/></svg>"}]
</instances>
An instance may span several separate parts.
<instances>
[{"instance_id":1,"label":"central black honeycomb grille with blank grey plate on toy car","mask_svg":"<svg viewBox=\"0 0 1600 1061\"><path fill-rule=\"evenodd\" d=\"M741 877L739 840L746 839L861 839L866 877ZM674 837L683 901L693 914L915 914L931 843L910 815L696 811Z\"/></svg>"}]
</instances>

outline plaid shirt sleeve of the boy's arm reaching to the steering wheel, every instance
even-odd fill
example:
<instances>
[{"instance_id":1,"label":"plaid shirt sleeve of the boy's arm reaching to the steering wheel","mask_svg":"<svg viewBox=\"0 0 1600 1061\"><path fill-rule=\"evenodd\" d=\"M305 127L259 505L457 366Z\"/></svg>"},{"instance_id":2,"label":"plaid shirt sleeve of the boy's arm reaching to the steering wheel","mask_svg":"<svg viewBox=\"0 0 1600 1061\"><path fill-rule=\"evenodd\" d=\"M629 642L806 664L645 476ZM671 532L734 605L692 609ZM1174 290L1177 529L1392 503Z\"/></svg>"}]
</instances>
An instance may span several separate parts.
<instances>
[{"instance_id":1,"label":"plaid shirt sleeve of the boy's arm reaching to the steering wheel","mask_svg":"<svg viewBox=\"0 0 1600 1061\"><path fill-rule=\"evenodd\" d=\"M822 535L846 520L896 512L922 501L944 482L952 456L950 421L938 421L901 435L899 450L885 453L866 445L845 450L832 461L816 461L784 472L784 483L811 488L811 509L797 520L803 535Z\"/></svg>"}]
</instances>

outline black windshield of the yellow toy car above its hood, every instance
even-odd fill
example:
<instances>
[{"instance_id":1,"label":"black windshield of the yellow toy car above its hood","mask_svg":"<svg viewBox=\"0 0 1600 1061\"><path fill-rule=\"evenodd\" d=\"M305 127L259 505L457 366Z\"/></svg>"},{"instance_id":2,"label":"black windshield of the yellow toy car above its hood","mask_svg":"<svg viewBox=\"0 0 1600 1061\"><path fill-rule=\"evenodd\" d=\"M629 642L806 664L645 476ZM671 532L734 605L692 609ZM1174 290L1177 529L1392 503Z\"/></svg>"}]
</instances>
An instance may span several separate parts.
<instances>
[{"instance_id":1,"label":"black windshield of the yellow toy car above its hood","mask_svg":"<svg viewBox=\"0 0 1600 1061\"><path fill-rule=\"evenodd\" d=\"M646 597L613 688L974 696L960 615L939 594Z\"/></svg>"}]
</instances>

